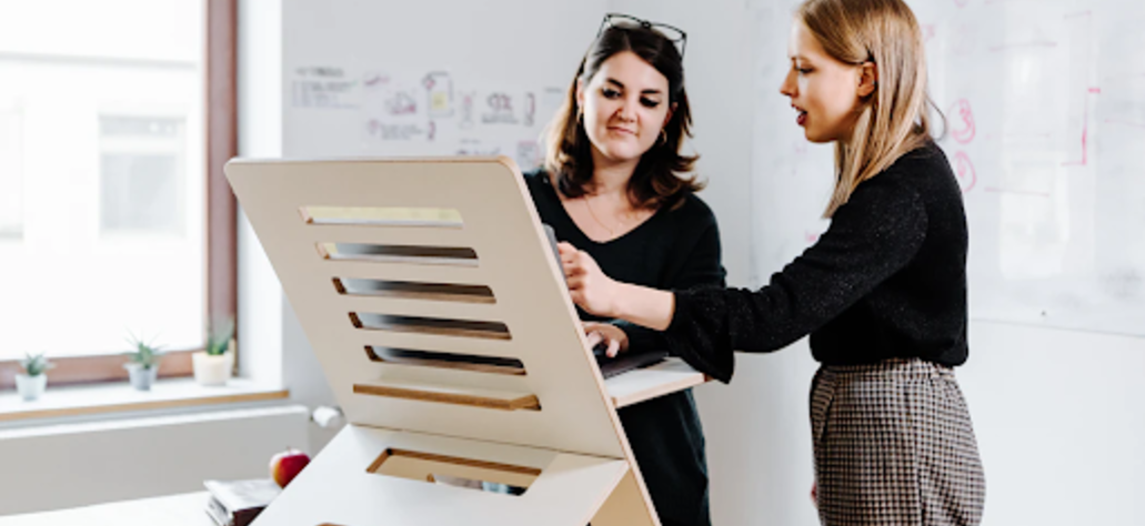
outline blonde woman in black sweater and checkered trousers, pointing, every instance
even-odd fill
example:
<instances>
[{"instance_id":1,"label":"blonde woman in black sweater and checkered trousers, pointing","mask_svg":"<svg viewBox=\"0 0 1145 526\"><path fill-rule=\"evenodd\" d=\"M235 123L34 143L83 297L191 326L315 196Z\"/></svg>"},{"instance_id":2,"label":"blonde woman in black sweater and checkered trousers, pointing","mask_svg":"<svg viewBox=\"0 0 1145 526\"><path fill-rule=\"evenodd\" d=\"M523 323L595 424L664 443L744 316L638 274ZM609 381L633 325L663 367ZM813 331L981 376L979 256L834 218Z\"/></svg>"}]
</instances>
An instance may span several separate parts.
<instances>
[{"instance_id":1,"label":"blonde woman in black sweater and checkered trousers, pointing","mask_svg":"<svg viewBox=\"0 0 1145 526\"><path fill-rule=\"evenodd\" d=\"M810 334L821 521L978 524L985 477L953 373L968 356L966 221L930 138L918 24L901 0L806 0L789 55L780 91L810 141L836 146L828 231L755 292L630 285L562 245L572 298L665 330L724 381L734 350Z\"/></svg>"}]
</instances>

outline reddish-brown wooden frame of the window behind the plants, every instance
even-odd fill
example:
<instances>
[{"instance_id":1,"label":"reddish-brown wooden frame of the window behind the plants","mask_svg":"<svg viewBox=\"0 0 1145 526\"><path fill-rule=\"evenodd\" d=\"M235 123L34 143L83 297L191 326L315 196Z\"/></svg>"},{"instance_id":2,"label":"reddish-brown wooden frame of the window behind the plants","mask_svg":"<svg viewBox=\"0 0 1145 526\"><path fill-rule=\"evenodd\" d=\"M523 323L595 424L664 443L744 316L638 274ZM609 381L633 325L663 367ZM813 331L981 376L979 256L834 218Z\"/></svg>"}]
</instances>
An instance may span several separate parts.
<instances>
[{"instance_id":1,"label":"reddish-brown wooden frame of the window behind the plants","mask_svg":"<svg viewBox=\"0 0 1145 526\"><path fill-rule=\"evenodd\" d=\"M238 153L238 0L204 0L206 9L204 49L206 184L206 317L235 319L238 326L238 260L235 194L227 183L223 165ZM237 333L236 333L237 336ZM206 334L204 334L204 344ZM191 354L203 348L176 349L163 358L159 377L184 377L192 372ZM126 349L125 349L126 352ZM127 380L121 353L53 358L53 385L116 382ZM238 360L236 360L236 364ZM17 360L0 360L0 390L14 389Z\"/></svg>"}]
</instances>

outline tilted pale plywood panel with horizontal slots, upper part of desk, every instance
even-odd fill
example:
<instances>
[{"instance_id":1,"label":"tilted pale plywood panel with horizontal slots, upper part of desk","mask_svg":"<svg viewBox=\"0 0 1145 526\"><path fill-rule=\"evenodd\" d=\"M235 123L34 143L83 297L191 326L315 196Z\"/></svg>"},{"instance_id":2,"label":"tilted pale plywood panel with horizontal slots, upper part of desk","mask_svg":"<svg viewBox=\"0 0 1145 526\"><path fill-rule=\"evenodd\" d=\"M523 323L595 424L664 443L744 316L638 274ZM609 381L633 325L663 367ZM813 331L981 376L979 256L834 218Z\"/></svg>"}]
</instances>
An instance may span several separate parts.
<instances>
[{"instance_id":1,"label":"tilted pale plywood panel with horizontal slots, upper part of desk","mask_svg":"<svg viewBox=\"0 0 1145 526\"><path fill-rule=\"evenodd\" d=\"M227 174L350 422L629 456L560 269L512 161L236 160ZM463 225L317 224L306 220L305 207L456 209ZM477 258L469 266L410 258L334 261L318 249L330 242L466 248ZM334 278L485 286L495 302L349 296L339 293ZM499 322L510 338L357 328L352 312ZM514 358L526 373L376 361L366 345ZM388 392L403 397L377 394L387 392L387 384L396 386ZM419 384L426 386L425 399L410 396ZM458 404L456 394L466 390L480 393L482 403ZM497 392L512 393L505 407L518 411L489 403L488 394ZM528 396L539 411L521 403Z\"/></svg>"}]
</instances>

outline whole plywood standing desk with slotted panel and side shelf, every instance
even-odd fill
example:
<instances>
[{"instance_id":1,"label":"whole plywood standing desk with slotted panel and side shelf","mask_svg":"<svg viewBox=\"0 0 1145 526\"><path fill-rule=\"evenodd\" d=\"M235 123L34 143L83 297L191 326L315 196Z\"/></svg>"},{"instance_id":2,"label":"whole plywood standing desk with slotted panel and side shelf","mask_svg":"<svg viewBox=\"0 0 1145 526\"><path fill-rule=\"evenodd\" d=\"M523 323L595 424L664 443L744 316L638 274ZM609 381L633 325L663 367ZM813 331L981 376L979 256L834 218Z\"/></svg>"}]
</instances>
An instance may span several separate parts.
<instances>
[{"instance_id":1,"label":"whole plywood standing desk with slotted panel and side shelf","mask_svg":"<svg viewBox=\"0 0 1145 526\"><path fill-rule=\"evenodd\" d=\"M703 376L606 386L511 160L227 175L349 422L259 525L658 525L616 408Z\"/></svg>"}]
</instances>

